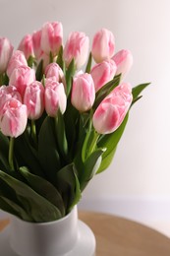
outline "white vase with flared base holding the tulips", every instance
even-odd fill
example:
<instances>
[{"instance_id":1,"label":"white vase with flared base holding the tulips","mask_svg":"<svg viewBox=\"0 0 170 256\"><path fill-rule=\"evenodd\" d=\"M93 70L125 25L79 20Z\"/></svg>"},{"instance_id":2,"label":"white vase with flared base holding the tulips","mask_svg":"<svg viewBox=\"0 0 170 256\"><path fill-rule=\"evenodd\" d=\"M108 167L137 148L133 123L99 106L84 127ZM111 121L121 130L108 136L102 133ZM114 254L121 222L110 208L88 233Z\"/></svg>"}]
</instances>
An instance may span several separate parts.
<instances>
[{"instance_id":1,"label":"white vase with flared base holding the tulips","mask_svg":"<svg viewBox=\"0 0 170 256\"><path fill-rule=\"evenodd\" d=\"M94 256L95 237L78 220L78 209L61 220L34 224L14 216L10 224L10 244L20 256Z\"/></svg>"}]
</instances>

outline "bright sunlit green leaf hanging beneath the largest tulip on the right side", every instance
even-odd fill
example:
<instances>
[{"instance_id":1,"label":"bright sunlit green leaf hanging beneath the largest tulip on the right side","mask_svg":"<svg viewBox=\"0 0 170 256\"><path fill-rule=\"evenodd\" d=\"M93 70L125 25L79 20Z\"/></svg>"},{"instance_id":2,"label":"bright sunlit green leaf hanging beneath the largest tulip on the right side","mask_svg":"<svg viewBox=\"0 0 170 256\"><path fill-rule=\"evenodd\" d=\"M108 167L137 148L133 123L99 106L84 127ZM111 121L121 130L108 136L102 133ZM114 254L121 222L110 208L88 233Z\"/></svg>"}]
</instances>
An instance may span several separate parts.
<instances>
[{"instance_id":1,"label":"bright sunlit green leaf hanging beneath the largest tulip on the right side","mask_svg":"<svg viewBox=\"0 0 170 256\"><path fill-rule=\"evenodd\" d=\"M98 147L105 149L105 152L102 155L101 165L97 173L100 173L101 171L105 170L110 165L114 157L116 147L124 133L126 124L128 122L128 116L129 114L127 113L126 117L124 118L124 121L114 133L105 134L99 140Z\"/></svg>"}]
</instances>

